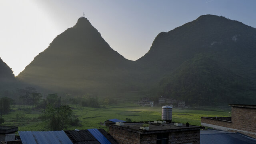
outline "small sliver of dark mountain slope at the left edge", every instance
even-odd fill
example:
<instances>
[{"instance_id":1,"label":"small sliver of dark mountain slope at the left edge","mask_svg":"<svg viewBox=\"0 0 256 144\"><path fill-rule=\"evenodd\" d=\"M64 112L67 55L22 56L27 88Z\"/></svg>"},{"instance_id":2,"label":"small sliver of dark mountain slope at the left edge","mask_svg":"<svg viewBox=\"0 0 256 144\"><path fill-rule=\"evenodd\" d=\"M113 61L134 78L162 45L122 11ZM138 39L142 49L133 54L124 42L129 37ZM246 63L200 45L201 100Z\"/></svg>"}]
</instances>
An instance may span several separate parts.
<instances>
[{"instance_id":1,"label":"small sliver of dark mountain slope at the left edge","mask_svg":"<svg viewBox=\"0 0 256 144\"><path fill-rule=\"evenodd\" d=\"M10 87L15 82L12 69L0 58L0 89Z\"/></svg>"}]
</instances>

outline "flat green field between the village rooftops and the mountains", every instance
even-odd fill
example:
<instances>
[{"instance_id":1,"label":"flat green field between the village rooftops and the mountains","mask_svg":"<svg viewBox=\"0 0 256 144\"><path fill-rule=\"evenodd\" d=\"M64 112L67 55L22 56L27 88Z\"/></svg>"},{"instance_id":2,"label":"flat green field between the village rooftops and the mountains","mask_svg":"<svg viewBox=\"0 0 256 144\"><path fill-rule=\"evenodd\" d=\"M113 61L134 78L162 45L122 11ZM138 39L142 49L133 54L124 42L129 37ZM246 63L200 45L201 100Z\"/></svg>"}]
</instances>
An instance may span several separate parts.
<instances>
[{"instance_id":1,"label":"flat green field between the village rooftops and the mountains","mask_svg":"<svg viewBox=\"0 0 256 144\"><path fill-rule=\"evenodd\" d=\"M76 116L80 120L81 126L70 126L67 130L88 129L88 128L105 128L100 125L105 120L117 118L125 120L130 118L132 121L153 121L161 118L161 107L139 106L132 102L119 103L106 108L89 108L78 105L70 105ZM46 124L39 118L42 109L18 108L12 106L9 114L3 115L5 122L2 125L18 126L19 131L42 131L48 130ZM229 116L230 108L200 108L199 109L179 109L173 108L172 121L182 123L189 122L193 125L200 126L200 116Z\"/></svg>"}]
</instances>

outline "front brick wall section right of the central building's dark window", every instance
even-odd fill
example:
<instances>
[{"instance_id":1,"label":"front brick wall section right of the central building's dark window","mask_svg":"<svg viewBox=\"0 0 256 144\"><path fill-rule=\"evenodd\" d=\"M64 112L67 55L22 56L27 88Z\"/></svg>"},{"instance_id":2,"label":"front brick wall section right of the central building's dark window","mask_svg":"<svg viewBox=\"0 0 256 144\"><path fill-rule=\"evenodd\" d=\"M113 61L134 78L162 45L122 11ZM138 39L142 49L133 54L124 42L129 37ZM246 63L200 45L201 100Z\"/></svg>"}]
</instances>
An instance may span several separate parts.
<instances>
[{"instance_id":1,"label":"front brick wall section right of the central building's dark window","mask_svg":"<svg viewBox=\"0 0 256 144\"><path fill-rule=\"evenodd\" d=\"M200 144L200 130L169 133L169 144L184 144L190 142L193 144Z\"/></svg>"}]
</instances>

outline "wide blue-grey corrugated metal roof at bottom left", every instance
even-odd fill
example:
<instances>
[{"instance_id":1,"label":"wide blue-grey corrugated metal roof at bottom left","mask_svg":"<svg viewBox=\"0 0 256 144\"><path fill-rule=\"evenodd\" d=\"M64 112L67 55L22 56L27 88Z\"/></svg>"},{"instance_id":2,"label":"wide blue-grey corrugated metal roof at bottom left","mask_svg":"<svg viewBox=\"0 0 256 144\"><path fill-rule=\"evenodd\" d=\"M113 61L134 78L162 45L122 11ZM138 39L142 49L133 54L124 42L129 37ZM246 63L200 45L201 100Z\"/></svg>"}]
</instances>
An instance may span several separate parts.
<instances>
[{"instance_id":1,"label":"wide blue-grey corrugated metal roof at bottom left","mask_svg":"<svg viewBox=\"0 0 256 144\"><path fill-rule=\"evenodd\" d=\"M31 132L19 131L22 144L73 144L62 131Z\"/></svg>"}]
</instances>

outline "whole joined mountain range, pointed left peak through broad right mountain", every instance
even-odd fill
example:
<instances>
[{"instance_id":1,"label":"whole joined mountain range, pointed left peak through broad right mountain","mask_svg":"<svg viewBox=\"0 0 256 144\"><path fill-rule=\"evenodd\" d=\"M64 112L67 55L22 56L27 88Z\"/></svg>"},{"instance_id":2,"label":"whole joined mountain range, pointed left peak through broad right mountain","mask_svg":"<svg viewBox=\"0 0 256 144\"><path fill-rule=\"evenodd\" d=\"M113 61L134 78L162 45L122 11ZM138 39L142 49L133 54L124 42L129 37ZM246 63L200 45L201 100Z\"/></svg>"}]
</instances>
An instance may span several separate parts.
<instances>
[{"instance_id":1,"label":"whole joined mountain range, pointed left peak through broad right mountain","mask_svg":"<svg viewBox=\"0 0 256 144\"><path fill-rule=\"evenodd\" d=\"M130 61L110 48L82 17L18 78L61 93L120 96L137 92L199 105L254 102L256 29L223 16L203 15L161 32L142 58Z\"/></svg>"}]
</instances>

